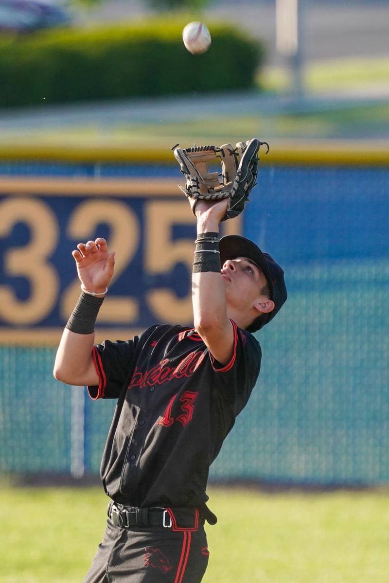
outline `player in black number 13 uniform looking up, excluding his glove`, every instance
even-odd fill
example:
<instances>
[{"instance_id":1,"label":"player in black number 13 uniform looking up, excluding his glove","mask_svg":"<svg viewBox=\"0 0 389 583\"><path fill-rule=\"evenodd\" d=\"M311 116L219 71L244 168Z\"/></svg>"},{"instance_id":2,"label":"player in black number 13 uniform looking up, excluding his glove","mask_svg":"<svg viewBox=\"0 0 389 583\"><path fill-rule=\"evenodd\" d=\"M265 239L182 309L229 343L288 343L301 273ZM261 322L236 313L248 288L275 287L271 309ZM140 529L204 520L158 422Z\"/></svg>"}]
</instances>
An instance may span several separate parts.
<instances>
[{"instance_id":1,"label":"player in black number 13 uniform looking up, excluding his glove","mask_svg":"<svg viewBox=\"0 0 389 583\"><path fill-rule=\"evenodd\" d=\"M85 583L198 583L208 564L209 466L257 381L250 332L286 300L283 271L240 236L219 240L230 201L197 200L192 328L154 325L126 342L94 345L114 272L103 238L73 251L82 293L62 335L55 378L116 399L101 461L110 498L104 538ZM162 251L163 252L163 251Z\"/></svg>"}]
</instances>

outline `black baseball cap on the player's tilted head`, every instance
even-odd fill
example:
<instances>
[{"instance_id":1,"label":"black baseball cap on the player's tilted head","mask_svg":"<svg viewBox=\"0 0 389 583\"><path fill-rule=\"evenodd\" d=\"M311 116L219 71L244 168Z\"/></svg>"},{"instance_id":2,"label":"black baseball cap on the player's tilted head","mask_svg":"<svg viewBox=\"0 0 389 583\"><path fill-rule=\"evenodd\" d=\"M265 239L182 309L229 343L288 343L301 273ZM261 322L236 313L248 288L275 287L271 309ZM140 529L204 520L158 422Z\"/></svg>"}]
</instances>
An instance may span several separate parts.
<instances>
[{"instance_id":1,"label":"black baseball cap on the player's tilted head","mask_svg":"<svg viewBox=\"0 0 389 583\"><path fill-rule=\"evenodd\" d=\"M219 241L220 264L223 265L227 259L235 259L236 257L247 257L254 261L255 264L262 270L265 278L268 281L270 289L270 298L274 301L274 310L268 314L258 317L260 322L255 320L248 330L254 332L268 324L281 310L285 303L288 293L286 291L285 280L283 278L283 269L274 261L268 253L263 253L253 241L241 237L240 235L226 235ZM257 322L257 324L256 324Z\"/></svg>"}]
</instances>

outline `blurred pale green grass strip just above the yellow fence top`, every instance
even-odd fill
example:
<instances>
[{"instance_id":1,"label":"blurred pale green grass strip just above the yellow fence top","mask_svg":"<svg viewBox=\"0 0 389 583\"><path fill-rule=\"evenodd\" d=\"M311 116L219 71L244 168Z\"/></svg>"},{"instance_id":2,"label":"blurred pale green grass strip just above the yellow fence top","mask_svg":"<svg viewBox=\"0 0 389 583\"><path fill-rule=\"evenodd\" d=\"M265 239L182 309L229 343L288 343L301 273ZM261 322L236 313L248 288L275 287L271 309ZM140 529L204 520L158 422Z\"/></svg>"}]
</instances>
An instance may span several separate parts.
<instances>
[{"instance_id":1,"label":"blurred pale green grass strip just above the yellow fence top","mask_svg":"<svg viewBox=\"0 0 389 583\"><path fill-rule=\"evenodd\" d=\"M204 116L201 121L132 122L117 128L91 126L67 129L45 129L23 132L4 131L0 145L131 147L169 150L177 142L183 146L239 142L253 135L271 138L360 138L363 135L380 136L389 120L389 100L372 106L338 106L324 111L301 113L278 112L263 114ZM173 154L172 154L173 161Z\"/></svg>"}]
</instances>

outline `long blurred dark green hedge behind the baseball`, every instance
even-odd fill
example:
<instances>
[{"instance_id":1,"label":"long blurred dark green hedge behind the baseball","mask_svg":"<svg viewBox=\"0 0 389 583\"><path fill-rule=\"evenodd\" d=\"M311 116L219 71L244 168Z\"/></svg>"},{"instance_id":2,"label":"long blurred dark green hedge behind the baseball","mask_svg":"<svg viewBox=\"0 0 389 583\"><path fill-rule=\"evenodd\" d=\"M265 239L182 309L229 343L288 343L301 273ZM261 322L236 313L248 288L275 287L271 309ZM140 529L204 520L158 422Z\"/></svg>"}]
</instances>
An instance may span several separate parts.
<instances>
[{"instance_id":1,"label":"long blurred dark green hedge behind the baseball","mask_svg":"<svg viewBox=\"0 0 389 583\"><path fill-rule=\"evenodd\" d=\"M243 89L254 85L261 43L209 25L211 48L191 55L183 22L66 29L0 38L0 106Z\"/></svg>"}]
</instances>

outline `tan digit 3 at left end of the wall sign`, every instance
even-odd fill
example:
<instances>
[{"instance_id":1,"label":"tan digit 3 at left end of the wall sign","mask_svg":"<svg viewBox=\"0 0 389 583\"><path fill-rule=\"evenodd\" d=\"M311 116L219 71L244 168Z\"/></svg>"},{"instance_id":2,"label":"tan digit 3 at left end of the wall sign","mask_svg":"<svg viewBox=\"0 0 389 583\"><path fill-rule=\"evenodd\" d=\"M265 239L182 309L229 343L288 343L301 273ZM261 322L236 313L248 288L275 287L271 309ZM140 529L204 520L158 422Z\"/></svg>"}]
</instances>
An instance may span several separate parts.
<instances>
[{"instance_id":1,"label":"tan digit 3 at left end of the wall sign","mask_svg":"<svg viewBox=\"0 0 389 583\"><path fill-rule=\"evenodd\" d=\"M59 227L52 210L40 200L5 199L0 203L0 237L6 237L16 223L26 224L31 237L24 247L5 252L4 271L27 278L30 296L18 300L12 287L0 286L0 316L9 324L36 324L50 314L57 300L59 279L47 258L57 245Z\"/></svg>"}]
</instances>

